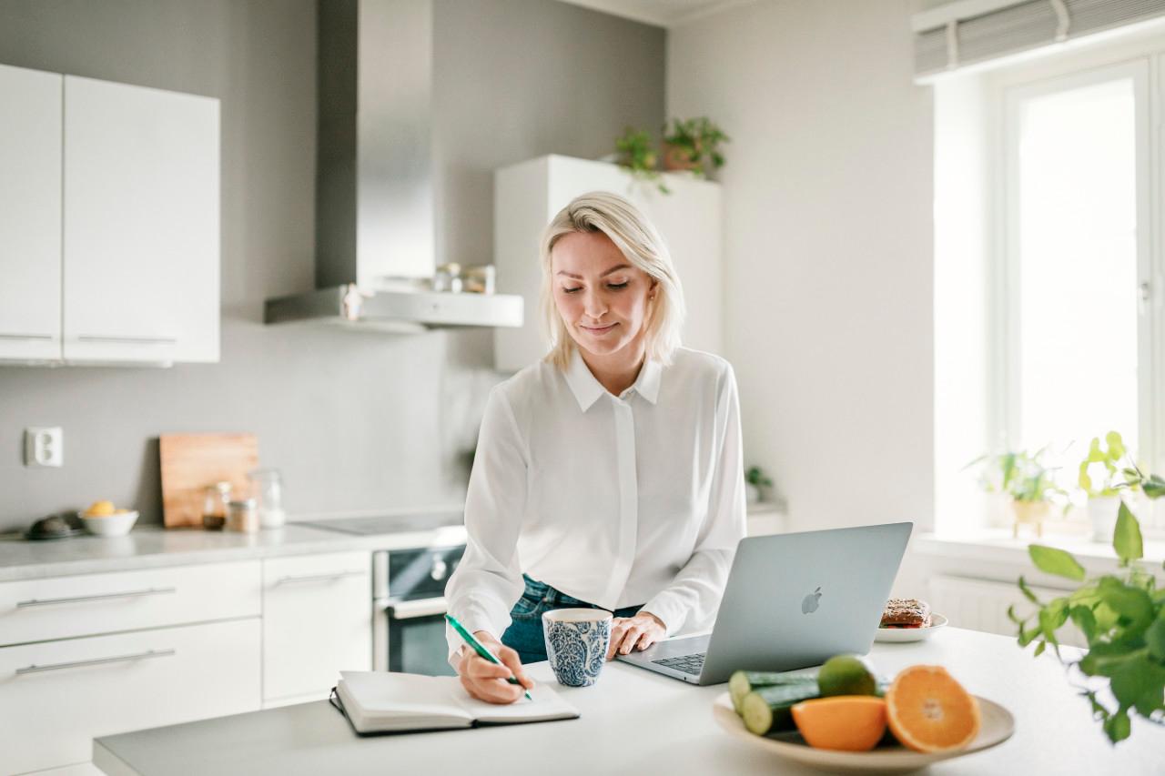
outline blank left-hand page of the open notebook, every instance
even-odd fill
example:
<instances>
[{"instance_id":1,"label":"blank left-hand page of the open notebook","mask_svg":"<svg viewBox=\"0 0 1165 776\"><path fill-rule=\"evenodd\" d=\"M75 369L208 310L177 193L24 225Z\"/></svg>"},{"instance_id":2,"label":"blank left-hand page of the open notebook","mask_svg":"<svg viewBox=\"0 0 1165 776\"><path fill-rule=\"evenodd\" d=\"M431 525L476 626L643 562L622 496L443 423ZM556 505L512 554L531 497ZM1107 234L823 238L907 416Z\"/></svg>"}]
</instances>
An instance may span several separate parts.
<instances>
[{"instance_id":1,"label":"blank left-hand page of the open notebook","mask_svg":"<svg viewBox=\"0 0 1165 776\"><path fill-rule=\"evenodd\" d=\"M466 725L472 717L450 697L451 677L389 673L383 671L340 671L348 700L369 729Z\"/></svg>"}]
</instances>

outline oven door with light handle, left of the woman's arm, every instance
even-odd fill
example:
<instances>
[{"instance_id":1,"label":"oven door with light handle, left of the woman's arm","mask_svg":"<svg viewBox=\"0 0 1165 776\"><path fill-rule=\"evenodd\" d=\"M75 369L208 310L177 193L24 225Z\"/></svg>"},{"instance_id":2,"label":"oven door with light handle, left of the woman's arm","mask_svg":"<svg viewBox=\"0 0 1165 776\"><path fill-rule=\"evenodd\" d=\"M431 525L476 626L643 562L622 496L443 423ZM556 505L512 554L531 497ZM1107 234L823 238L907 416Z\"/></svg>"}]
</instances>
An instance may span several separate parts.
<instances>
[{"instance_id":1,"label":"oven door with light handle, left of the woman's arm","mask_svg":"<svg viewBox=\"0 0 1165 776\"><path fill-rule=\"evenodd\" d=\"M387 602L383 619L387 627L387 669L426 676L456 676L446 659L444 598Z\"/></svg>"}]
</instances>

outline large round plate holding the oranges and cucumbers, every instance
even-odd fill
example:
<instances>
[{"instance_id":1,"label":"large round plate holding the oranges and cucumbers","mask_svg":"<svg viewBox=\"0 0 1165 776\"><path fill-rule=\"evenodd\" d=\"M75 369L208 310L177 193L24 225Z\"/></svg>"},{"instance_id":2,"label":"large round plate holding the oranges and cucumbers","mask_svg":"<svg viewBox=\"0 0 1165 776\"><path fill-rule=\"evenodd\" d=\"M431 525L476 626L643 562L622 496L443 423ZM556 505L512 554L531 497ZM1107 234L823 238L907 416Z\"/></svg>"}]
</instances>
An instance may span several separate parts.
<instances>
[{"instance_id":1,"label":"large round plate holding the oranges and cucumbers","mask_svg":"<svg viewBox=\"0 0 1165 776\"><path fill-rule=\"evenodd\" d=\"M814 749L804 742L796 731L779 738L768 738L749 733L743 720L732 708L732 698L723 693L712 704L712 715L730 735L743 739L748 743L767 749L778 757L798 762L803 766L818 768L833 774L904 774L926 768L939 760L951 760L982 752L1003 743L1015 733L1016 721L1003 706L975 696L979 700L981 725L979 735L966 749L956 752L923 753L913 752L902 746L878 747L873 752L835 752L833 749Z\"/></svg>"}]
</instances>

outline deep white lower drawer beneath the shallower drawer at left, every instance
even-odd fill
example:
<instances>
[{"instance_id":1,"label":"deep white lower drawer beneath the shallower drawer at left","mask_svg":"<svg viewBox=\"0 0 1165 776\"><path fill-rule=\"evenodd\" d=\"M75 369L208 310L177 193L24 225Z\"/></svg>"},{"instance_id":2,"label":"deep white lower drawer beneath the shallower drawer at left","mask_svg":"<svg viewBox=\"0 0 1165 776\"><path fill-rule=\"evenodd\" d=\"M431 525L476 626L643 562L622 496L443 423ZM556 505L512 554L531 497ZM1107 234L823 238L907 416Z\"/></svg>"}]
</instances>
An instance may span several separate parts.
<instances>
[{"instance_id":1,"label":"deep white lower drawer beneath the shallower drawer at left","mask_svg":"<svg viewBox=\"0 0 1165 776\"><path fill-rule=\"evenodd\" d=\"M87 762L99 735L257 710L260 630L249 618L0 649L0 774Z\"/></svg>"}]
</instances>

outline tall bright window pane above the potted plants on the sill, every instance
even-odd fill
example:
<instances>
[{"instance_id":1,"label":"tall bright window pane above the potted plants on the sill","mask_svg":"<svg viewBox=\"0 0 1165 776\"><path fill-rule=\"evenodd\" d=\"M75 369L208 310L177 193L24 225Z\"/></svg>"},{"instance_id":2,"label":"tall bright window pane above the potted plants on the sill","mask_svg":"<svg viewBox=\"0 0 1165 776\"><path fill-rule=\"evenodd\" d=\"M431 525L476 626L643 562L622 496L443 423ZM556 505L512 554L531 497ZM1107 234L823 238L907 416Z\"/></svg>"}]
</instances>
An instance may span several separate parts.
<instances>
[{"instance_id":1,"label":"tall bright window pane above the potted plants on the sill","mask_svg":"<svg viewBox=\"0 0 1165 776\"><path fill-rule=\"evenodd\" d=\"M1139 401L1151 372L1138 371L1146 80L1141 62L1005 96L996 417L1011 447L1046 445L1066 466L1110 429L1142 453L1152 437L1141 429L1151 412L1139 411L1151 409Z\"/></svg>"}]
</instances>

